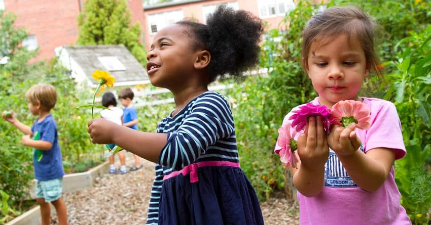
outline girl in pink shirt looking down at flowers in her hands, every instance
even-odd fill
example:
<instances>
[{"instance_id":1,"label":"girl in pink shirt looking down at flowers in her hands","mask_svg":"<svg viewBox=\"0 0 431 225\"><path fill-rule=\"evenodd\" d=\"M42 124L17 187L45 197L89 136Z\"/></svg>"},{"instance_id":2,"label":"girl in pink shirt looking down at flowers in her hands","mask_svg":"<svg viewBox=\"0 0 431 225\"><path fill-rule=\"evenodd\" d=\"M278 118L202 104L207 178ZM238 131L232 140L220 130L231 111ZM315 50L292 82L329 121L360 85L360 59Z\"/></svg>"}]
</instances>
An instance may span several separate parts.
<instances>
[{"instance_id":1,"label":"girl in pink shirt looking down at flowers in her hands","mask_svg":"<svg viewBox=\"0 0 431 225\"><path fill-rule=\"evenodd\" d=\"M308 119L298 137L297 168L290 167L301 224L411 224L394 179L393 162L406 154L397 109L358 96L370 70L379 69L374 32L370 17L349 7L318 13L304 28L302 63L318 94L311 103L331 108L361 101L371 110L371 126L334 125L327 135L318 116ZM292 124L291 115L283 125Z\"/></svg>"}]
</instances>

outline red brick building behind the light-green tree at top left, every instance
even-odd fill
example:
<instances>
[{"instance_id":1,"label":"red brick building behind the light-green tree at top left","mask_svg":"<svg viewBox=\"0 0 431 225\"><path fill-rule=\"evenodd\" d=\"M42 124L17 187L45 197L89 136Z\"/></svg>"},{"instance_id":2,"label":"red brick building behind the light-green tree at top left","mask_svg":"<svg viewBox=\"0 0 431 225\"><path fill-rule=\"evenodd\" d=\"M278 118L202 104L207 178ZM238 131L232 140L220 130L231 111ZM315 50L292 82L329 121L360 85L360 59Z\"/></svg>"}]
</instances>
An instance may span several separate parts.
<instances>
[{"instance_id":1,"label":"red brick building behind the light-green tree at top left","mask_svg":"<svg viewBox=\"0 0 431 225\"><path fill-rule=\"evenodd\" d=\"M17 15L16 26L28 30L23 45L40 49L37 60L55 56L54 49L75 44L78 39L78 15L85 0L0 0L0 8ZM143 21L141 0L127 0L132 24ZM143 30L143 26L141 27Z\"/></svg>"}]
</instances>

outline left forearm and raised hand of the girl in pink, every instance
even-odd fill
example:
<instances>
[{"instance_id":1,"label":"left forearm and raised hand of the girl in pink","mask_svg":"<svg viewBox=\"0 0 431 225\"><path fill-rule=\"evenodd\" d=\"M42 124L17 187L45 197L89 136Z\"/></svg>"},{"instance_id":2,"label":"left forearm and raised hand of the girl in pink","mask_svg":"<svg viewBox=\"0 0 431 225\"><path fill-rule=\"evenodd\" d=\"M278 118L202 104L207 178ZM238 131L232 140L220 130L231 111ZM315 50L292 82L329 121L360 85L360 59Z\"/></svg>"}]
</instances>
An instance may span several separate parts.
<instances>
[{"instance_id":1,"label":"left forearm and raised hand of the girl in pink","mask_svg":"<svg viewBox=\"0 0 431 225\"><path fill-rule=\"evenodd\" d=\"M298 169L291 168L291 171L296 189L304 196L313 197L325 185L325 163L329 148L321 119L310 117L306 127L305 132L298 137Z\"/></svg>"}]
</instances>

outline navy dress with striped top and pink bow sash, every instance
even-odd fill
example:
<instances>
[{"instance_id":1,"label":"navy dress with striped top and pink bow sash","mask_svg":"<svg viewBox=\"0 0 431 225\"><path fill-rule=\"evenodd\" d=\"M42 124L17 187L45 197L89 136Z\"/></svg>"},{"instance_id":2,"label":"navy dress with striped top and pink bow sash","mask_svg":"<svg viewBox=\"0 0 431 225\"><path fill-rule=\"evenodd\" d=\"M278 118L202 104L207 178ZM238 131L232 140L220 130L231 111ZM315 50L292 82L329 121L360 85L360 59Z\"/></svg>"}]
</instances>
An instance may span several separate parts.
<instances>
[{"instance_id":1,"label":"navy dress with striped top and pink bow sash","mask_svg":"<svg viewBox=\"0 0 431 225\"><path fill-rule=\"evenodd\" d=\"M239 168L233 117L222 95L201 94L165 117L157 132L168 138L147 224L264 224L255 190Z\"/></svg>"}]
</instances>

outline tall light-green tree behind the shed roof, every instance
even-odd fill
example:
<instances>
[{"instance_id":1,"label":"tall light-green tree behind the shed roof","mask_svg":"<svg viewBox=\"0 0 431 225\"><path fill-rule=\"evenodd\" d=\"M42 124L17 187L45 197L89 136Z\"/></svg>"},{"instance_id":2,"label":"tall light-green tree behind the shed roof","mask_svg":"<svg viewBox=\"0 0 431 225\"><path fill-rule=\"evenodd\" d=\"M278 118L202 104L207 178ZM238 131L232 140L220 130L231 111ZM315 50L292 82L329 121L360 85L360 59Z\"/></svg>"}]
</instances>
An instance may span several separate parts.
<instances>
[{"instance_id":1,"label":"tall light-green tree behind the shed roof","mask_svg":"<svg viewBox=\"0 0 431 225\"><path fill-rule=\"evenodd\" d=\"M123 44L142 65L147 63L146 50L139 42L140 24L131 26L125 0L88 0L78 23L78 44Z\"/></svg>"}]
</instances>

